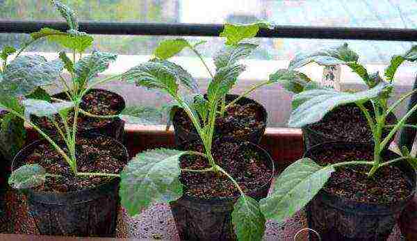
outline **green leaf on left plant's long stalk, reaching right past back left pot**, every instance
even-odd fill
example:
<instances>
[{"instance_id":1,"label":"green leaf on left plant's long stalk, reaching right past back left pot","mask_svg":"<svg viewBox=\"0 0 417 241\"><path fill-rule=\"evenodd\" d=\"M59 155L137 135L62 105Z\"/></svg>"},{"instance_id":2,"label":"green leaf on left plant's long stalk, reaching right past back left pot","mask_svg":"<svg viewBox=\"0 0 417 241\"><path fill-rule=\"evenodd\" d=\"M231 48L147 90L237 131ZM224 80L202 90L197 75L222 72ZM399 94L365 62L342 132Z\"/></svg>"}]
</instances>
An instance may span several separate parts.
<instances>
[{"instance_id":1,"label":"green leaf on left plant's long stalk, reaching right past back left pot","mask_svg":"<svg viewBox=\"0 0 417 241\"><path fill-rule=\"evenodd\" d=\"M161 110L150 106L128 106L120 113L127 124L157 125L162 123Z\"/></svg>"}]
</instances>

